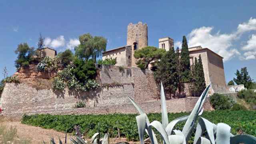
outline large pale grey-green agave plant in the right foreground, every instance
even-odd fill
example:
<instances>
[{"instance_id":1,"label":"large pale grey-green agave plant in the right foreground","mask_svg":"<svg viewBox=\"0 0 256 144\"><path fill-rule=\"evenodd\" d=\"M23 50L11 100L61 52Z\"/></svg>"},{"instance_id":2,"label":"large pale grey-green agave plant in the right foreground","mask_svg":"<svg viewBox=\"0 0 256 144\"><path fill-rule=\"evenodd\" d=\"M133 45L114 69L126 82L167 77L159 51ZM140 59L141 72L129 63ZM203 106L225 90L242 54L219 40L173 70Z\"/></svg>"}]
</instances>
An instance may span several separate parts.
<instances>
[{"instance_id":1,"label":"large pale grey-green agave plant in the right foreground","mask_svg":"<svg viewBox=\"0 0 256 144\"><path fill-rule=\"evenodd\" d=\"M168 123L168 113L166 109L166 100L164 94L164 88L161 83L161 112L162 112L162 123L159 121L149 122L146 113L142 110L142 108L134 102L130 97L130 101L134 105L134 107L138 110L140 115L136 116L136 121L138 125L138 133L140 137L141 144L144 144L144 132L146 132L151 140L152 144L158 144L156 139L156 135L152 130L154 127L162 138L164 144L188 144L188 140L192 134L194 127L196 126L196 133L194 137L193 144L256 144L256 137L250 135L232 135L230 133L230 126L224 123L213 124L205 118L199 117L203 112L203 104L206 100L206 96L208 94L209 84L201 96L198 98L196 105L194 106L192 112L189 116L182 116L180 118L176 118ZM173 130L174 126L178 122L185 121L186 123L182 129ZM198 123L196 124L196 121ZM203 137L204 133L205 137Z\"/></svg>"}]
</instances>

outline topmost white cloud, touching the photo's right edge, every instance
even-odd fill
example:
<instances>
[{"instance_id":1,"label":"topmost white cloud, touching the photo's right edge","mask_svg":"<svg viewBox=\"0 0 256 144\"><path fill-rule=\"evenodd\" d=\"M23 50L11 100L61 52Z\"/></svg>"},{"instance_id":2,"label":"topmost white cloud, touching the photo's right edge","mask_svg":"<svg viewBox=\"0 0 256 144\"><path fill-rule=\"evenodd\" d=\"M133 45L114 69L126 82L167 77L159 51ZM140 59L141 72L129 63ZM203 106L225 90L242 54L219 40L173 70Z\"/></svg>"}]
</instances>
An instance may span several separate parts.
<instances>
[{"instance_id":1,"label":"topmost white cloud, touching the photo's right edge","mask_svg":"<svg viewBox=\"0 0 256 144\"><path fill-rule=\"evenodd\" d=\"M256 30L256 18L250 18L248 22L239 24L237 27L238 34L241 34L243 32L248 32L251 30Z\"/></svg>"}]
</instances>

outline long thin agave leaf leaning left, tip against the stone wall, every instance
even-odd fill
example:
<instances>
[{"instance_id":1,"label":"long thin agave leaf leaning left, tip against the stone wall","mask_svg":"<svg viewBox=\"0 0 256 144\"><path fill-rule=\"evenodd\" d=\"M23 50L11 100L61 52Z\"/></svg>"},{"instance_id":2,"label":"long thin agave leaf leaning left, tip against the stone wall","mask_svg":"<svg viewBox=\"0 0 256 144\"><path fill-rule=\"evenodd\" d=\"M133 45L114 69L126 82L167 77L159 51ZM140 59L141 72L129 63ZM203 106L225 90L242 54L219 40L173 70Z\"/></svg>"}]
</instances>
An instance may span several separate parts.
<instances>
[{"instance_id":1,"label":"long thin agave leaf leaning left, tip against the stone wall","mask_svg":"<svg viewBox=\"0 0 256 144\"><path fill-rule=\"evenodd\" d=\"M142 110L142 108L141 108L136 102L134 102L134 100L132 100L132 98L130 98L129 96L128 96L128 98L129 98L129 100L132 102L132 104L133 104L134 107L138 110L138 112L139 112L140 114L146 114L146 113ZM149 122L149 120L148 120L148 116L146 116L146 124L147 124L147 126L146 126L146 133L147 133L148 136L150 137L151 143L152 143L152 144L158 144L157 139L156 139L156 135L154 134L153 130L151 129L151 131L148 131L148 126L150 125L150 122Z\"/></svg>"}]
</instances>

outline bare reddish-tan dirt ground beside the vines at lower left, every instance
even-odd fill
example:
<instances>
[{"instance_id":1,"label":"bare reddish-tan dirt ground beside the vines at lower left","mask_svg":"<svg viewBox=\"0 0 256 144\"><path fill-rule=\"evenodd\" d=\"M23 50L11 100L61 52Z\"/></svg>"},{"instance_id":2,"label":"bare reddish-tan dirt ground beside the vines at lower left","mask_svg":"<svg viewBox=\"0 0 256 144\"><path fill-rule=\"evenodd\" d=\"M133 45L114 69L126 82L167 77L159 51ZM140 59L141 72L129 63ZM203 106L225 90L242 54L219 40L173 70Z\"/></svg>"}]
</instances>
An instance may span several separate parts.
<instances>
[{"instance_id":1,"label":"bare reddish-tan dirt ground beside the vines at lower left","mask_svg":"<svg viewBox=\"0 0 256 144\"><path fill-rule=\"evenodd\" d=\"M55 130L48 130L36 126L28 126L21 124L20 122L1 122L0 125L5 125L6 127L16 127L17 136L19 138L29 139L31 144L42 144L43 140L47 143L50 142L50 138L53 137L55 142L58 143L58 137L64 142L65 133L57 132ZM68 142L70 141L70 135L68 135Z\"/></svg>"}]
</instances>

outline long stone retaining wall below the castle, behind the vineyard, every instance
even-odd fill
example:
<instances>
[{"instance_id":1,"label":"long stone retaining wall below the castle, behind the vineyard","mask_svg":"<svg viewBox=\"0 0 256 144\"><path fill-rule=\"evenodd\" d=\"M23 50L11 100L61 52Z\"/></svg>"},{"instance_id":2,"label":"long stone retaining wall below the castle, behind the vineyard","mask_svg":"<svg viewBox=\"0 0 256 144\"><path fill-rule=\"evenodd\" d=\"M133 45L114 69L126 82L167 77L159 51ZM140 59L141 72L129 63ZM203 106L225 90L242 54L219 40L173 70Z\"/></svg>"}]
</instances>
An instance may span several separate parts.
<instances>
[{"instance_id":1,"label":"long stone retaining wall below the castle, behind the vineyard","mask_svg":"<svg viewBox=\"0 0 256 144\"><path fill-rule=\"evenodd\" d=\"M136 113L128 96L140 103L148 113L160 112L160 101L156 99L157 86L150 70L103 66L98 74L102 88L90 92L68 89L54 92L52 89L38 90L29 84L6 84L0 99L4 116L20 118L22 114L110 114ZM167 100L168 112L191 111L197 98ZM84 101L85 108L74 108L76 102ZM206 109L212 110L209 102Z\"/></svg>"}]
</instances>

